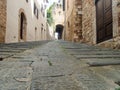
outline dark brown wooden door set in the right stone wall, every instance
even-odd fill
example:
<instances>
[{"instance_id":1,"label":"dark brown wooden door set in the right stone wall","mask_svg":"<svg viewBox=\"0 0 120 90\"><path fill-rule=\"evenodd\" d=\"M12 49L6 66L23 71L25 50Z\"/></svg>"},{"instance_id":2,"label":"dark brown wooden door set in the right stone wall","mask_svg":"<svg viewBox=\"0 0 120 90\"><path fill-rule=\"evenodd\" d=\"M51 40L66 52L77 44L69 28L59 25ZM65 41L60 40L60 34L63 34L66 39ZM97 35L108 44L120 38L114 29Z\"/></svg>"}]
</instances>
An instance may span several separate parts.
<instances>
[{"instance_id":1,"label":"dark brown wooden door set in the right stone wall","mask_svg":"<svg viewBox=\"0 0 120 90\"><path fill-rule=\"evenodd\" d=\"M113 37L112 0L96 0L97 43Z\"/></svg>"}]
</instances>

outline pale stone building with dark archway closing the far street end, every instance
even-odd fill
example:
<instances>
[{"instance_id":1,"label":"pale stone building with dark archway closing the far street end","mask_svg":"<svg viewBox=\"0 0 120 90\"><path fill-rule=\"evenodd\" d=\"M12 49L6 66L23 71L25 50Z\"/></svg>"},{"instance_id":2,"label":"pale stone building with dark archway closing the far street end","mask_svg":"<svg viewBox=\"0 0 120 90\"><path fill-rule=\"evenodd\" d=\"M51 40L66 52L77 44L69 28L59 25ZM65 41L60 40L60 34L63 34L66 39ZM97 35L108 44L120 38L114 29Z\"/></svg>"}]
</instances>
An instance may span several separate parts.
<instances>
[{"instance_id":1,"label":"pale stone building with dark archway closing the far street end","mask_svg":"<svg viewBox=\"0 0 120 90\"><path fill-rule=\"evenodd\" d=\"M57 39L62 39L64 36L64 12L62 7L62 0L59 0L57 3L55 3L55 7L53 9L53 19Z\"/></svg>"}]
</instances>

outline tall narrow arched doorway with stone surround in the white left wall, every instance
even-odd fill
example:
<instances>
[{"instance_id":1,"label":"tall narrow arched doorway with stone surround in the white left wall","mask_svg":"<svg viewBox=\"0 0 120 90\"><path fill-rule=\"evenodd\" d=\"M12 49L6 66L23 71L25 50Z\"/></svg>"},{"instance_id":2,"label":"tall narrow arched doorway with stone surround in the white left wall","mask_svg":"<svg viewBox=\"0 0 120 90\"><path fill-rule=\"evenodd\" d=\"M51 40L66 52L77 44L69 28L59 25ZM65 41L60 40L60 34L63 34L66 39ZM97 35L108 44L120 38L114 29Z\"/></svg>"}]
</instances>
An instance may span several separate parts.
<instances>
[{"instance_id":1,"label":"tall narrow arched doorway with stone surround in the white left wall","mask_svg":"<svg viewBox=\"0 0 120 90\"><path fill-rule=\"evenodd\" d=\"M27 18L24 9L19 10L19 42L26 41L27 34Z\"/></svg>"}]
</instances>

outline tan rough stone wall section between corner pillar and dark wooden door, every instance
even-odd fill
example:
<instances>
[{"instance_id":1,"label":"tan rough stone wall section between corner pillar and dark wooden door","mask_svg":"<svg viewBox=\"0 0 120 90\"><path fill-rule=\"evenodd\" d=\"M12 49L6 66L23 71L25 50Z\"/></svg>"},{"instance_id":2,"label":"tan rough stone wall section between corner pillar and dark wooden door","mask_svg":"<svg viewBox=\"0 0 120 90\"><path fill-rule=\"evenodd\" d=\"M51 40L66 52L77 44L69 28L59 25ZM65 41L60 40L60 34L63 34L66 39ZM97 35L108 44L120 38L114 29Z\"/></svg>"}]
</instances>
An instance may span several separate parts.
<instances>
[{"instance_id":1,"label":"tan rough stone wall section between corner pillar and dark wooden door","mask_svg":"<svg viewBox=\"0 0 120 90\"><path fill-rule=\"evenodd\" d=\"M93 0L82 0L82 34L83 41L93 44L94 42L94 2Z\"/></svg>"}]
</instances>

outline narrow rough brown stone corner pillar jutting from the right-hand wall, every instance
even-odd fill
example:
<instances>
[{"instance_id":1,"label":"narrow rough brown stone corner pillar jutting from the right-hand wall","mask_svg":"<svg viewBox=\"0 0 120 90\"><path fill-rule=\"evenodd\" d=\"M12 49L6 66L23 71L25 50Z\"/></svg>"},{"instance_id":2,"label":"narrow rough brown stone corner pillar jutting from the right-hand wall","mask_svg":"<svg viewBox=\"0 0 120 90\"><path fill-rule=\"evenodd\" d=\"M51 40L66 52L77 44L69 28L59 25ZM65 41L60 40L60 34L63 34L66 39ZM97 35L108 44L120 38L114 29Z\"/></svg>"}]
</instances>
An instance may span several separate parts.
<instances>
[{"instance_id":1,"label":"narrow rough brown stone corner pillar jutting from the right-hand wall","mask_svg":"<svg viewBox=\"0 0 120 90\"><path fill-rule=\"evenodd\" d=\"M75 0L74 4L74 42L80 42L83 39L82 36L82 1L81 0Z\"/></svg>"}]
</instances>

